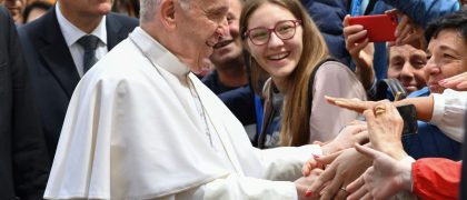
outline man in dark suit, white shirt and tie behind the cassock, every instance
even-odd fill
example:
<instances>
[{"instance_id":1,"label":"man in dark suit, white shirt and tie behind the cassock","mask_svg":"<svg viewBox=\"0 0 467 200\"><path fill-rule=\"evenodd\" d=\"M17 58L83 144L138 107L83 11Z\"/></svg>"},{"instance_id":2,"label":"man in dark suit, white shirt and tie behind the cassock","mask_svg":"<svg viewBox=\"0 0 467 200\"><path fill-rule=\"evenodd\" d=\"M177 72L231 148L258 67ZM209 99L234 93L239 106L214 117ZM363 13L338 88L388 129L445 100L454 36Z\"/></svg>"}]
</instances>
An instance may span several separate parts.
<instances>
[{"instance_id":1,"label":"man in dark suit, white shirt and tie behind the cassock","mask_svg":"<svg viewBox=\"0 0 467 200\"><path fill-rule=\"evenodd\" d=\"M58 0L40 19L18 29L50 159L78 81L138 26L137 19L110 8L111 0Z\"/></svg>"}]
</instances>

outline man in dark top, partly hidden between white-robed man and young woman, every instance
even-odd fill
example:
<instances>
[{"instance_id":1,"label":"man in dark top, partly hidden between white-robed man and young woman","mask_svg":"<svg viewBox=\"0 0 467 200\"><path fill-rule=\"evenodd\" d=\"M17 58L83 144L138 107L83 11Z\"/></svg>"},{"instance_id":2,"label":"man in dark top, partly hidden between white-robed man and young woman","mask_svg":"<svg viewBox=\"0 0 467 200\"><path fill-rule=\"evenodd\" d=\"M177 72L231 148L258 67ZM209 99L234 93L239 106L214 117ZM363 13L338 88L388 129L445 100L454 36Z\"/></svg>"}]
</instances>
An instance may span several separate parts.
<instances>
[{"instance_id":1,"label":"man in dark top, partly hidden between white-robed man and young woman","mask_svg":"<svg viewBox=\"0 0 467 200\"><path fill-rule=\"evenodd\" d=\"M216 93L229 110L244 124L250 140L256 134L256 116L254 92L242 54L239 33L239 18L244 0L231 0L227 21L229 34L213 47L209 58L215 70L202 78L209 89Z\"/></svg>"}]
</instances>

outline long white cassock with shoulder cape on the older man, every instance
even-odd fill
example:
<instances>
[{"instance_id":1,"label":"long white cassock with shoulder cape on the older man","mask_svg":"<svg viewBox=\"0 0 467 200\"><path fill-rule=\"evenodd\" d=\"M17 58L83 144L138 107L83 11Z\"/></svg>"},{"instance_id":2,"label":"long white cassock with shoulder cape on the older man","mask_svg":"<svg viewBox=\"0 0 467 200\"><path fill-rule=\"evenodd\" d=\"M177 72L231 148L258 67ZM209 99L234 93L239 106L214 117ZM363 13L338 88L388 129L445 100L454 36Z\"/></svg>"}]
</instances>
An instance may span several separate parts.
<instances>
[{"instance_id":1,"label":"long white cassock with shoulder cape on the older man","mask_svg":"<svg viewBox=\"0 0 467 200\"><path fill-rule=\"evenodd\" d=\"M259 150L187 66L137 28L78 84L47 199L295 199L318 146Z\"/></svg>"}]
</instances>

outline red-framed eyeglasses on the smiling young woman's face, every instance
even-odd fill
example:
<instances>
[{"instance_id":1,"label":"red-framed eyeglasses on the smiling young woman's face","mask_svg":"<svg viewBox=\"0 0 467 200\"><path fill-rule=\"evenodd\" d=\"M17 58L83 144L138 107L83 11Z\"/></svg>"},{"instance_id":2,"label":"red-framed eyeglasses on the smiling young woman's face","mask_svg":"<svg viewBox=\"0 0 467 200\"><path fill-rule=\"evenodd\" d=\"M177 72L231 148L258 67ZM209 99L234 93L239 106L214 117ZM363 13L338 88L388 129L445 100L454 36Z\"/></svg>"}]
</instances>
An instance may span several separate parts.
<instances>
[{"instance_id":1,"label":"red-framed eyeglasses on the smiling young woman's face","mask_svg":"<svg viewBox=\"0 0 467 200\"><path fill-rule=\"evenodd\" d=\"M289 40L294 38L297 26L301 24L301 20L285 20L279 21L272 29L265 27L257 27L245 32L250 41L256 46L262 46L269 42L271 32L275 32L281 40Z\"/></svg>"}]
</instances>

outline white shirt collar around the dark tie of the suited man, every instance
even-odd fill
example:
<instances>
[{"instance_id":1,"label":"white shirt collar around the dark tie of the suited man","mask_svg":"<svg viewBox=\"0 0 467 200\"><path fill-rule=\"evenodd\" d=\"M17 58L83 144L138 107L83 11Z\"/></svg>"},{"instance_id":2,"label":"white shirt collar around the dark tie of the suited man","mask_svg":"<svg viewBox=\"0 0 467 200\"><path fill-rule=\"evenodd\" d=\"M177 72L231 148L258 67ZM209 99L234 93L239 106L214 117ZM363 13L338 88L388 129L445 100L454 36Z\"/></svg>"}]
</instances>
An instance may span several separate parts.
<instances>
[{"instance_id":1,"label":"white shirt collar around the dark tie of the suited man","mask_svg":"<svg viewBox=\"0 0 467 200\"><path fill-rule=\"evenodd\" d=\"M73 23L67 20L64 16L61 13L59 2L56 3L56 12L57 12L57 20L60 26L60 30L63 34L64 41L67 42L68 47L74 44L81 37L86 36L87 33L76 27ZM103 16L102 20L98 27L90 33L100 39L107 46L107 29L106 29L106 16Z\"/></svg>"}]
</instances>

